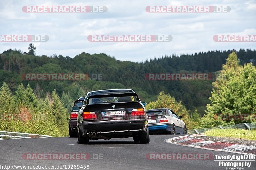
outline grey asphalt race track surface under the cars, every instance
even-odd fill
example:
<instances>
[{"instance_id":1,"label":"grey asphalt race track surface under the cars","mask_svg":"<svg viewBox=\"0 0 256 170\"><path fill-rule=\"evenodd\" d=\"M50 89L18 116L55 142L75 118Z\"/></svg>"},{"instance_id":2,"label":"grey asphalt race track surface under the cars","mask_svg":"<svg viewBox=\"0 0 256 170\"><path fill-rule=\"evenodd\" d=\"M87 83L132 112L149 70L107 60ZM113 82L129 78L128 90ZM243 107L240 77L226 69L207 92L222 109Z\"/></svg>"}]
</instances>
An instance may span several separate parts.
<instances>
[{"instance_id":1,"label":"grey asphalt race track surface under the cars","mask_svg":"<svg viewBox=\"0 0 256 170\"><path fill-rule=\"evenodd\" d=\"M147 153L232 153L211 151L164 142L165 139L179 135L150 135L149 144L133 142L132 138L90 141L80 145L76 138L28 138L0 140L0 169L6 166L58 166L89 165L89 169L226 169L219 167L218 161L211 160L148 160ZM88 153L88 160L27 160L26 153ZM93 155L94 154L94 155ZM97 158L97 154L102 159ZM92 158L92 159L91 159ZM2 168L1 168L2 166ZM250 168L255 169L255 161ZM71 167L67 169L71 169ZM20 169L24 169L20 168ZM65 169L65 167L64 167ZM80 168L81 169L81 168Z\"/></svg>"}]
</instances>

